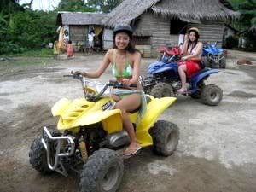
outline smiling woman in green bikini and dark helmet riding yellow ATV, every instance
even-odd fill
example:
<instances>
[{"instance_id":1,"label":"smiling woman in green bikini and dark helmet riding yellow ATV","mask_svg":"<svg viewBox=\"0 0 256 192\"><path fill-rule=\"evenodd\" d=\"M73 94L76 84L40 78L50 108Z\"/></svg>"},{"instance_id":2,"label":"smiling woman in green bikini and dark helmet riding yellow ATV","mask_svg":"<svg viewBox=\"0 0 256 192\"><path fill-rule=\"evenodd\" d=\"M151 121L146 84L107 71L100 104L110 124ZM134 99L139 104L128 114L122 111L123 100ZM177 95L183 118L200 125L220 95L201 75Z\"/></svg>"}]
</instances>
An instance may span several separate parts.
<instances>
[{"instance_id":1,"label":"smiling woman in green bikini and dark helmet riding yellow ATV","mask_svg":"<svg viewBox=\"0 0 256 192\"><path fill-rule=\"evenodd\" d=\"M140 75L141 54L131 44L132 29L128 25L118 25L113 29L113 49L109 49L101 66L94 73L82 73L84 77L99 78L105 72L107 67L111 65L113 76L126 87L131 84L137 84L137 90L142 90L138 82ZM113 99L117 102L114 108L122 111L122 120L125 131L131 138L131 143L125 149L124 155L136 154L141 146L137 143L135 131L127 112L131 112L141 105L141 95L138 93L120 97L113 95Z\"/></svg>"}]
</instances>

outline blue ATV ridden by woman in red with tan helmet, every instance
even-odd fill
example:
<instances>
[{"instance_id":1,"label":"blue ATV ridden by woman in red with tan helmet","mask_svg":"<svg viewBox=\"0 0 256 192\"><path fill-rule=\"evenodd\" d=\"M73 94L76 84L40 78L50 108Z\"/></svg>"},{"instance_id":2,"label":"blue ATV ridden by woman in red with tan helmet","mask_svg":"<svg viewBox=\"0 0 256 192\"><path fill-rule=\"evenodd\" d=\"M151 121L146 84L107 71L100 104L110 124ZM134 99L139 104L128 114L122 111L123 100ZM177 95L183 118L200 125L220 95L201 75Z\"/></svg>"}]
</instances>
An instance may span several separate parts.
<instances>
[{"instance_id":1,"label":"blue ATV ridden by woman in red with tan helmet","mask_svg":"<svg viewBox=\"0 0 256 192\"><path fill-rule=\"evenodd\" d=\"M143 90L154 97L177 96L177 90L182 86L178 75L177 62L165 63L155 61L148 66L148 75L141 76ZM215 84L205 84L205 80L218 69L204 68L190 79L187 79L187 93L190 96L210 106L216 106L222 100L223 91Z\"/></svg>"}]
</instances>

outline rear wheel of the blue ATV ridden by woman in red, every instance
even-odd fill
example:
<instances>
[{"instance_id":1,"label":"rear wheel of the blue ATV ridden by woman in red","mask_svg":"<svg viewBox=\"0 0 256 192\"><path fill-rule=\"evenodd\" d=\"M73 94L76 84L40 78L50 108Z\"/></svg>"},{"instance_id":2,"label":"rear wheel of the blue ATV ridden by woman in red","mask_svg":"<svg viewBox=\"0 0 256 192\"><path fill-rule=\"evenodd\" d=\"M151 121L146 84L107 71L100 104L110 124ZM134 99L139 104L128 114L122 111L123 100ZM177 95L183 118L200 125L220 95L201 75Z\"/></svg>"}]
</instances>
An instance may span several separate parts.
<instances>
[{"instance_id":1,"label":"rear wheel of the blue ATV ridden by woman in red","mask_svg":"<svg viewBox=\"0 0 256 192\"><path fill-rule=\"evenodd\" d=\"M204 104L216 106L222 100L223 91L215 84L207 84L201 91L201 100Z\"/></svg>"}]
</instances>

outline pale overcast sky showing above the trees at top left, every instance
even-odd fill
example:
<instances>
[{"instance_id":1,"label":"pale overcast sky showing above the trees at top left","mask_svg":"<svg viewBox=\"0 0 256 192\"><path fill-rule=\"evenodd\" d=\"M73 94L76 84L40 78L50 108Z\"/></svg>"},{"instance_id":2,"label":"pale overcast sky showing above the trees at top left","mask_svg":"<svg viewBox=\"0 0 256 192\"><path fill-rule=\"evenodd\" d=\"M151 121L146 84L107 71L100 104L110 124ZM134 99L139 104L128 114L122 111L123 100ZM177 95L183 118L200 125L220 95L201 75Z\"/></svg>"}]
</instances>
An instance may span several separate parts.
<instances>
[{"instance_id":1,"label":"pale overcast sky showing above the trees at top left","mask_svg":"<svg viewBox=\"0 0 256 192\"><path fill-rule=\"evenodd\" d=\"M32 9L53 10L60 0L33 0ZM30 0L20 0L20 4L30 3Z\"/></svg>"}]
</instances>

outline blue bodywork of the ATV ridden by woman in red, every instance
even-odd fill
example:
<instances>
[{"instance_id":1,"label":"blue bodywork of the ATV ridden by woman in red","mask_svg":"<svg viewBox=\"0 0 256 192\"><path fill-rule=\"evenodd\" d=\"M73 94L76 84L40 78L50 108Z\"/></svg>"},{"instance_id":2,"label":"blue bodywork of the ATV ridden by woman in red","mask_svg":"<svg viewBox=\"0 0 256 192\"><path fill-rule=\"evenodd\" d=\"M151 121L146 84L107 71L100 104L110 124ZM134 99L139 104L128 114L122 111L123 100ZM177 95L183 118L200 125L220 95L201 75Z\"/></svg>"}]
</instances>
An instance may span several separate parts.
<instances>
[{"instance_id":1,"label":"blue bodywork of the ATV ridden by woman in red","mask_svg":"<svg viewBox=\"0 0 256 192\"><path fill-rule=\"evenodd\" d=\"M218 73L218 69L204 68L190 79L188 83L190 84L190 89L188 90L190 94L195 93L198 90L197 84L201 79L207 78L210 74ZM179 79L178 75L178 65L177 63L165 63L162 61L155 61L148 66L148 74L157 75L160 73L165 73L170 79Z\"/></svg>"}]
</instances>

